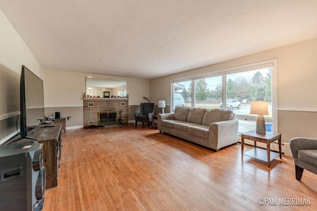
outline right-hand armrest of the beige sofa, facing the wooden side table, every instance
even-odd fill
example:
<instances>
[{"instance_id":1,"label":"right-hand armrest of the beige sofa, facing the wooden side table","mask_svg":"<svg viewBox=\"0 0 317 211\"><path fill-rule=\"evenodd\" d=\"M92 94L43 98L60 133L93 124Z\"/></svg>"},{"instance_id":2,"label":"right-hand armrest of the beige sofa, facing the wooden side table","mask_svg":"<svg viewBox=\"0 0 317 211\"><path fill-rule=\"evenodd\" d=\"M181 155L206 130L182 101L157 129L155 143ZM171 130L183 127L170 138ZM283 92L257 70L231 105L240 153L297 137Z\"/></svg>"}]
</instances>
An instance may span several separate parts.
<instances>
[{"instance_id":1,"label":"right-hand armrest of the beige sofa, facing the wooden side table","mask_svg":"<svg viewBox=\"0 0 317 211\"><path fill-rule=\"evenodd\" d=\"M239 141L239 121L228 120L211 123L209 126L209 147L219 150Z\"/></svg>"}]
</instances>

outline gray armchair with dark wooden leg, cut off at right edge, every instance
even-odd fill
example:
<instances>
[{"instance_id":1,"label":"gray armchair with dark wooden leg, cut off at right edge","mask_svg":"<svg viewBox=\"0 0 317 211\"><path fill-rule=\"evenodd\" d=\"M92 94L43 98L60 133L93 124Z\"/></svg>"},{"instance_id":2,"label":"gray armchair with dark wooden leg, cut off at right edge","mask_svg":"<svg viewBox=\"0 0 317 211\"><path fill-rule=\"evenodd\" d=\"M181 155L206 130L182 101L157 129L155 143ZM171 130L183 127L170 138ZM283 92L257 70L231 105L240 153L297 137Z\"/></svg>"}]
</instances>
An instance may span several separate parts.
<instances>
[{"instance_id":1,"label":"gray armchair with dark wooden leg, cut off at right edge","mask_svg":"<svg viewBox=\"0 0 317 211\"><path fill-rule=\"evenodd\" d=\"M301 180L304 169L317 174L317 139L296 137L289 142L295 164L296 179Z\"/></svg>"}]
</instances>

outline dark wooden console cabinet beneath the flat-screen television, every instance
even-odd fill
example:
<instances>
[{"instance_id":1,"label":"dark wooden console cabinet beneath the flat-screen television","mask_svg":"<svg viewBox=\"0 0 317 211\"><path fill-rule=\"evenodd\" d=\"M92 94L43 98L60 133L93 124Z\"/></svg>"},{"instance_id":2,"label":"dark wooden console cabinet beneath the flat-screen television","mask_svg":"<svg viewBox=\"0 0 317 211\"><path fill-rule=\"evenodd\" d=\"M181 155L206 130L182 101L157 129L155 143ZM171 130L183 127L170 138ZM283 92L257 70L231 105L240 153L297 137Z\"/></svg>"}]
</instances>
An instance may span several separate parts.
<instances>
[{"instance_id":1,"label":"dark wooden console cabinet beneath the flat-screen television","mask_svg":"<svg viewBox=\"0 0 317 211\"><path fill-rule=\"evenodd\" d=\"M46 169L46 188L57 186L58 172L62 150L61 123L53 124L53 127L42 125L34 130L29 137L38 139L43 144L43 160ZM29 140L30 141L30 140Z\"/></svg>"}]
</instances>

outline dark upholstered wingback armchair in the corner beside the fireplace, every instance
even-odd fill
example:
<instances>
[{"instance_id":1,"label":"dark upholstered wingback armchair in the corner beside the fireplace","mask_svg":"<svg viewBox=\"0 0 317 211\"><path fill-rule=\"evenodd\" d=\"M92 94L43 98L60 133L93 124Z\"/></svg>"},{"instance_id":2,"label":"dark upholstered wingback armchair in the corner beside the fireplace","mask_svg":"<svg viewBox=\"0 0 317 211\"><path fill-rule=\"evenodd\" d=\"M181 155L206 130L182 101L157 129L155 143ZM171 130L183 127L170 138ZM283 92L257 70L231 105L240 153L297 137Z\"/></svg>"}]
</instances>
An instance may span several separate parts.
<instances>
[{"instance_id":1,"label":"dark upholstered wingback armchair in the corner beside the fireplace","mask_svg":"<svg viewBox=\"0 0 317 211\"><path fill-rule=\"evenodd\" d=\"M138 122L148 123L148 127L150 127L150 123L153 123L153 114L155 103L141 103L141 111L134 114L135 127L137 127Z\"/></svg>"}]
</instances>

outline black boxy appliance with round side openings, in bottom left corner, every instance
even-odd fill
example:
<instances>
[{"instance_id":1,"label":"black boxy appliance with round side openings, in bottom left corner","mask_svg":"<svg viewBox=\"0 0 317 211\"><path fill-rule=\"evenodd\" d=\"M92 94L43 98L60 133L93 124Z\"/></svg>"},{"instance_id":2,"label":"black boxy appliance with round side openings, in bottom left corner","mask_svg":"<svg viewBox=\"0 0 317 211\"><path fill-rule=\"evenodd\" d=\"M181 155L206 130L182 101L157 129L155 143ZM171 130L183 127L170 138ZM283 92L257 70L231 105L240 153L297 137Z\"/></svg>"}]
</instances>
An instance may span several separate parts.
<instances>
[{"instance_id":1,"label":"black boxy appliance with round side openings, in bottom left corner","mask_svg":"<svg viewBox=\"0 0 317 211\"><path fill-rule=\"evenodd\" d=\"M1 211L41 211L45 186L43 144L15 142L0 147Z\"/></svg>"}]
</instances>

